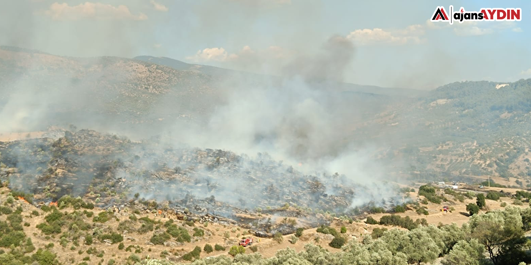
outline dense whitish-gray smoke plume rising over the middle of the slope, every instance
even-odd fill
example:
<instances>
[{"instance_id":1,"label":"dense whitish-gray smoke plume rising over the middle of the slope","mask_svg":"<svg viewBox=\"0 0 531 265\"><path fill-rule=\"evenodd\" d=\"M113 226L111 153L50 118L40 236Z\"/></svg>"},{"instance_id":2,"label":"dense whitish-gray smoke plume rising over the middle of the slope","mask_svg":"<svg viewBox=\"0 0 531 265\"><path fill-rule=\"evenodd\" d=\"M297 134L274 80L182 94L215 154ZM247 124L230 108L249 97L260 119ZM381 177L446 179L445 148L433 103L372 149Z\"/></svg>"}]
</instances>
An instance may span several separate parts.
<instances>
[{"instance_id":1,"label":"dense whitish-gray smoke plume rising over the middle of the slope","mask_svg":"<svg viewBox=\"0 0 531 265\"><path fill-rule=\"evenodd\" d=\"M231 86L205 123L179 123L172 128L167 143L178 139L202 148L251 155L267 152L298 171L325 178L329 188L347 184L327 179L339 172L348 184L364 187L352 206L395 197L396 191L386 183L392 180L390 167L377 159L386 143L360 143L349 138L355 130L353 121L367 111L380 110L370 103L349 101L348 96L335 90L333 81L342 80L353 56L354 47L349 40L331 37L315 56L288 62L286 76L280 82L252 86L242 81ZM322 177L322 173L328 176ZM234 185L238 181L241 180ZM199 191L194 195L204 194ZM218 197L231 201L234 192L219 191Z\"/></svg>"}]
</instances>

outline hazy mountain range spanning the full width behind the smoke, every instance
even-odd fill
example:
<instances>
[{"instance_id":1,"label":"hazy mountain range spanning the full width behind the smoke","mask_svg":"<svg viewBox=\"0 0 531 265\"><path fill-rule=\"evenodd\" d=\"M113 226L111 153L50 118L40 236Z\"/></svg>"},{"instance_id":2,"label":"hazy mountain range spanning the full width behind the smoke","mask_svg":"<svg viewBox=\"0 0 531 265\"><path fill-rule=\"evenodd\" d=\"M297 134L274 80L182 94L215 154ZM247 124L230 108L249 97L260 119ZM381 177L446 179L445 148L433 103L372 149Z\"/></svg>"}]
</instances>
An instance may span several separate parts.
<instances>
[{"instance_id":1,"label":"hazy mountain range spanning the full width behind the smoke","mask_svg":"<svg viewBox=\"0 0 531 265\"><path fill-rule=\"evenodd\" d=\"M252 122L262 123L267 117L273 124L264 125L253 136L264 145L287 132L287 143L300 140L296 149L307 153L305 141L313 141L309 134L323 130L331 139L318 149L330 148L337 154L350 146L375 146L375 159L416 179L531 176L531 79L455 82L433 91L307 84L310 88L303 93L319 96L294 102L301 92L292 91L289 83L284 85L276 77L166 57L73 58L16 47L0 49L0 78L0 122L3 130L13 132L72 123L79 128L152 136L163 128L202 131L215 121L228 130L227 135L216 135L221 141L241 133L237 130L242 125L229 121L240 122L242 112L258 112L259 120ZM228 108L235 89L256 87L275 96L264 99L267 102L258 97L243 107ZM285 111L300 113L267 116L275 113L277 101ZM295 103L301 107L292 109ZM261 109L264 104L272 109ZM225 116L215 116L221 110ZM245 128L255 126L242 122L247 122ZM310 154L314 158L320 155L314 153ZM531 187L522 183L528 184Z\"/></svg>"}]
</instances>

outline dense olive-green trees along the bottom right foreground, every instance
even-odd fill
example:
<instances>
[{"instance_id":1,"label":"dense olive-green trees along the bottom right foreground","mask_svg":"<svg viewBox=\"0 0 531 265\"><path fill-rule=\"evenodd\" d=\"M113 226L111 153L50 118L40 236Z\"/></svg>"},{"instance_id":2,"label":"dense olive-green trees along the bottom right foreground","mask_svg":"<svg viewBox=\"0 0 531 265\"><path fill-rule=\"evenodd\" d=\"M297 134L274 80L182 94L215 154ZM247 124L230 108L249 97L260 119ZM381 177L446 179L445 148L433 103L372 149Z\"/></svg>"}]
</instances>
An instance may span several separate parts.
<instances>
[{"instance_id":1,"label":"dense olive-green trees along the bottom right foreground","mask_svg":"<svg viewBox=\"0 0 531 265\"><path fill-rule=\"evenodd\" d=\"M521 265L531 262L526 253L524 233L531 229L531 208L509 206L503 210L475 214L468 223L458 226L418 226L404 229L378 229L376 235L366 235L361 242L351 239L340 252L330 252L321 246L306 244L304 250L282 249L271 258L260 253L236 254L234 258L220 256L198 259L193 265L226 264L359 264L406 265L432 262L441 258L443 265ZM143 260L137 265L175 265L167 260Z\"/></svg>"}]
</instances>

